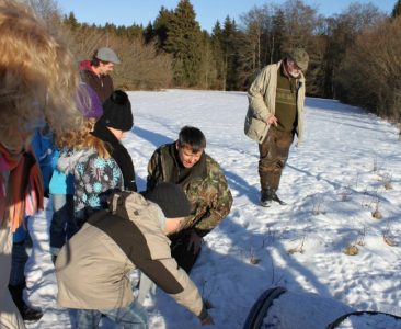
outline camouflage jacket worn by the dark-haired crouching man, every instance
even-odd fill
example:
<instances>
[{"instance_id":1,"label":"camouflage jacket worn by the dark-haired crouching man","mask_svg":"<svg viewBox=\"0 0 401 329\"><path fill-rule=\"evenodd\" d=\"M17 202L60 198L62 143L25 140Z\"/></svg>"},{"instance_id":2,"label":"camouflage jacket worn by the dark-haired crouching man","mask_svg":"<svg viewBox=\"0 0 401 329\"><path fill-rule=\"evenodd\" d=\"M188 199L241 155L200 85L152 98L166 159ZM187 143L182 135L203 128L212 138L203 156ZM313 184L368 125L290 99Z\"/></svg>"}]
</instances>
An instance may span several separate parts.
<instances>
[{"instance_id":1,"label":"camouflage jacket worn by the dark-haired crouching man","mask_svg":"<svg viewBox=\"0 0 401 329\"><path fill-rule=\"evenodd\" d=\"M191 203L191 215L180 231L192 228L204 237L230 212L232 196L226 177L220 166L205 152L184 181L177 182L179 173L175 143L162 145L149 160L147 190L159 182L180 184Z\"/></svg>"}]
</instances>

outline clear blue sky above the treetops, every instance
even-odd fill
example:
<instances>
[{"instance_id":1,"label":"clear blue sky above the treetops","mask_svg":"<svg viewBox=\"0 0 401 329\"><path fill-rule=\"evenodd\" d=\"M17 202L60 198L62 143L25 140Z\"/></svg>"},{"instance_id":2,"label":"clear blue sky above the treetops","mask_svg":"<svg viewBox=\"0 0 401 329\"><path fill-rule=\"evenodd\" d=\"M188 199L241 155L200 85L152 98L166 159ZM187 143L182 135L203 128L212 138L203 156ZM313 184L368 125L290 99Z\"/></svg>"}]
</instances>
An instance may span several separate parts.
<instances>
[{"instance_id":1,"label":"clear blue sky above the treetops","mask_svg":"<svg viewBox=\"0 0 401 329\"><path fill-rule=\"evenodd\" d=\"M211 31L216 21L222 22L227 15L239 20L239 16L254 5L264 3L280 4L285 1L274 0L192 0L196 12L196 19L202 29ZM355 1L345 0L303 0L303 3L314 5L323 15L341 13L350 3ZM396 0L359 0L357 2L371 2L386 13L390 13ZM104 24L106 22L116 25L131 25L133 23L147 25L152 22L162 5L174 9L179 0L58 0L62 13L72 11L79 22Z\"/></svg>"}]
</instances>

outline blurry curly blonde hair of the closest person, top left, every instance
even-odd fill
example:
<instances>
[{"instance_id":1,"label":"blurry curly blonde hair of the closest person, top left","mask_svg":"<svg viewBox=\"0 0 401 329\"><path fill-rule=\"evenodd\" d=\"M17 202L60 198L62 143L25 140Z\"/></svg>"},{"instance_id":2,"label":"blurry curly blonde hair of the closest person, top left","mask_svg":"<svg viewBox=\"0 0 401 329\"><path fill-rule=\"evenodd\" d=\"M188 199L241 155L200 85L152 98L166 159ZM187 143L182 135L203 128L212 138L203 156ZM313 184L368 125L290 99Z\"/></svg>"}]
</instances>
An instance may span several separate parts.
<instances>
[{"instance_id":1,"label":"blurry curly blonde hair of the closest person, top left","mask_svg":"<svg viewBox=\"0 0 401 329\"><path fill-rule=\"evenodd\" d=\"M0 0L0 140L15 146L47 122L62 135L82 125L78 70L67 46L26 5Z\"/></svg>"}]
</instances>

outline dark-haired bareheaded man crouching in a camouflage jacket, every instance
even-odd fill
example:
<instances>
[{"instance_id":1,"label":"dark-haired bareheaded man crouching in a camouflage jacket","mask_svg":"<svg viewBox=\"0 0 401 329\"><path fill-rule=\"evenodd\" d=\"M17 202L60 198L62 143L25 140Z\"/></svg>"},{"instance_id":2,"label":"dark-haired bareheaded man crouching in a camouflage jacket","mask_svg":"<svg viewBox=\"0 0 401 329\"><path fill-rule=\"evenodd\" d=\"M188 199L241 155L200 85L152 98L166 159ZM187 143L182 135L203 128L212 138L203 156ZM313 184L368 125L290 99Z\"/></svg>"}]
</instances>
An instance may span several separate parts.
<instances>
[{"instance_id":1,"label":"dark-haired bareheaded man crouching in a camouflage jacket","mask_svg":"<svg viewBox=\"0 0 401 329\"><path fill-rule=\"evenodd\" d=\"M191 215L169 236L172 256L187 273L200 252L203 237L229 214L232 205L225 174L205 148L202 131L185 126L176 141L153 152L148 164L147 191L170 182L180 185L190 200Z\"/></svg>"}]
</instances>

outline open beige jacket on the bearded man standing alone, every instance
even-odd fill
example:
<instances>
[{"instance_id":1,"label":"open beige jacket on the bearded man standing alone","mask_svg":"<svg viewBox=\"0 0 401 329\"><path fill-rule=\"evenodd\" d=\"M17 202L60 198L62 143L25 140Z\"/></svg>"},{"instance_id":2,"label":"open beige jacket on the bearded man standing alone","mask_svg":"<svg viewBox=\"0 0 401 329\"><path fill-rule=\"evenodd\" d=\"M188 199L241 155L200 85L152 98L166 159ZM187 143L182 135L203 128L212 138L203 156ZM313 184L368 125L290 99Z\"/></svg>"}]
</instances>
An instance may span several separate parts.
<instances>
[{"instance_id":1,"label":"open beige jacket on the bearded man standing alone","mask_svg":"<svg viewBox=\"0 0 401 329\"><path fill-rule=\"evenodd\" d=\"M270 124L267 120L275 114L277 72L283 61L267 65L257 75L248 90L249 107L245 117L244 133L248 137L262 144L267 135ZM303 141L303 105L305 105L305 77L301 73L297 79L297 128L298 145Z\"/></svg>"}]
</instances>

